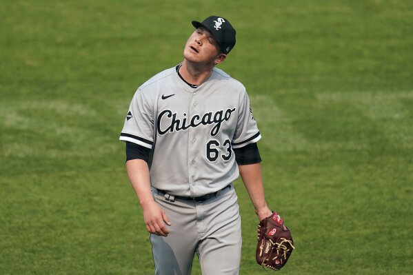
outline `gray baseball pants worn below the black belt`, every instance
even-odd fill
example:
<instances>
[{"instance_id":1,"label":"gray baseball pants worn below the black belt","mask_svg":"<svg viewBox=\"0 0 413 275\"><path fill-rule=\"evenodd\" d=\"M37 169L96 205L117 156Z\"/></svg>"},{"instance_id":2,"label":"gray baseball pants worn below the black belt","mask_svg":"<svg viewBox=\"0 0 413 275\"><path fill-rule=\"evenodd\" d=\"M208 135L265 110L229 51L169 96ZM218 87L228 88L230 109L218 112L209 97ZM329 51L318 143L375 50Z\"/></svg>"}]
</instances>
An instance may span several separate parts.
<instances>
[{"instance_id":1,"label":"gray baseball pants worn below the black belt","mask_svg":"<svg viewBox=\"0 0 413 275\"><path fill-rule=\"evenodd\" d=\"M201 203L152 193L172 223L167 237L150 235L156 275L190 275L195 253L203 275L239 274L241 217L233 185Z\"/></svg>"}]
</instances>

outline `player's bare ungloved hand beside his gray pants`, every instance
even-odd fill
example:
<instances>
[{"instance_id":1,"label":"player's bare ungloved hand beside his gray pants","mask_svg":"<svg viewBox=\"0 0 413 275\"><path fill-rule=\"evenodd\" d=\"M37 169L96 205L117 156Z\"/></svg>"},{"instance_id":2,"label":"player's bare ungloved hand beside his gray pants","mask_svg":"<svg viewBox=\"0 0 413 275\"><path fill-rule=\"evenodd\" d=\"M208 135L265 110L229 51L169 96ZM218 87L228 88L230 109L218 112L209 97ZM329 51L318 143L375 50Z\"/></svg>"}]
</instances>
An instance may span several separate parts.
<instances>
[{"instance_id":1,"label":"player's bare ungloved hand beside his gray pants","mask_svg":"<svg viewBox=\"0 0 413 275\"><path fill-rule=\"evenodd\" d=\"M143 220L145 221L146 229L148 232L158 236L168 236L169 231L166 225L171 225L168 216L157 205L157 203L151 203L150 205L143 207Z\"/></svg>"}]
</instances>

